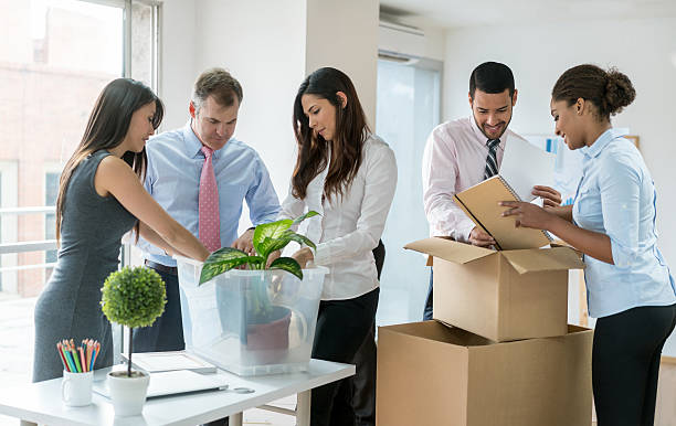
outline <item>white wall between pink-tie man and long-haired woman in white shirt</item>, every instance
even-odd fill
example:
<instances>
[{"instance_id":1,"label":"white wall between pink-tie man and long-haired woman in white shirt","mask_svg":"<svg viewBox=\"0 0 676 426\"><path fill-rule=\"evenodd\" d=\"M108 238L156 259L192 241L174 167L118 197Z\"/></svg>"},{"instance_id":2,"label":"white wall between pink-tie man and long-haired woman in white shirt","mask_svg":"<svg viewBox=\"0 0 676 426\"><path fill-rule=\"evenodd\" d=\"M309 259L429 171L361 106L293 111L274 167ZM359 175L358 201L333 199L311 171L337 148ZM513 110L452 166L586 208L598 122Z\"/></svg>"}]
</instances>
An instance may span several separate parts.
<instances>
[{"instance_id":1,"label":"white wall between pink-tie man and long-haired woman in white shirt","mask_svg":"<svg viewBox=\"0 0 676 426\"><path fill-rule=\"evenodd\" d=\"M197 73L222 66L240 81L235 137L261 155L283 199L295 162L293 103L305 77L305 1L198 3Z\"/></svg>"}]
</instances>

